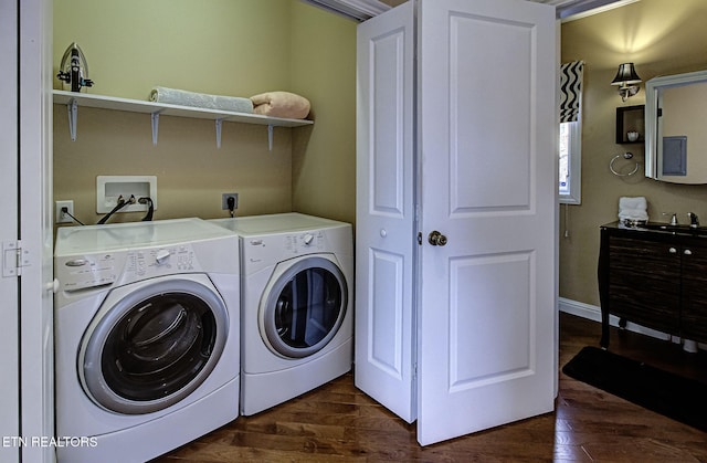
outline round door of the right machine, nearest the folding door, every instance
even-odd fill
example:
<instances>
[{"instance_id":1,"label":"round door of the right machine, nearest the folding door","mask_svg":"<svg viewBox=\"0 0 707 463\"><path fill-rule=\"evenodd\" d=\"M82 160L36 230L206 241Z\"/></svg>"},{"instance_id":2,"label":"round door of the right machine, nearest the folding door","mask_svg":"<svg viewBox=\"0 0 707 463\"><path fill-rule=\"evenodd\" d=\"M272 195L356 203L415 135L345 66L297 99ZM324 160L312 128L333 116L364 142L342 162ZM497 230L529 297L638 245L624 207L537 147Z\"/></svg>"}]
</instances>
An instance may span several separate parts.
<instances>
[{"instance_id":1,"label":"round door of the right machine, nearest the folding door","mask_svg":"<svg viewBox=\"0 0 707 463\"><path fill-rule=\"evenodd\" d=\"M339 329L347 297L346 280L333 261L306 257L292 264L271 286L262 311L271 349L288 358L319 351Z\"/></svg>"}]
</instances>

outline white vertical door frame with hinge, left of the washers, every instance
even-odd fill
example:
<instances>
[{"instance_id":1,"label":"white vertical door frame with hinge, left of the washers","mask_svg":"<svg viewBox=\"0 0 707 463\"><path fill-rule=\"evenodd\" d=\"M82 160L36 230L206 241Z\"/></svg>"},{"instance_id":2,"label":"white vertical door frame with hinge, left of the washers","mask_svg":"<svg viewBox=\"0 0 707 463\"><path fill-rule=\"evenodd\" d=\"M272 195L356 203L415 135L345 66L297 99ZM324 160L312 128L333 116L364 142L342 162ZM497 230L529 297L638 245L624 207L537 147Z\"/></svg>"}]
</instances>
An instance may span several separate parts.
<instances>
[{"instance_id":1,"label":"white vertical door frame with hinge, left of the washers","mask_svg":"<svg viewBox=\"0 0 707 463\"><path fill-rule=\"evenodd\" d=\"M19 239L21 429L54 435L52 223L52 0L19 6ZM22 460L52 462L51 445L23 445Z\"/></svg>"}]
</instances>

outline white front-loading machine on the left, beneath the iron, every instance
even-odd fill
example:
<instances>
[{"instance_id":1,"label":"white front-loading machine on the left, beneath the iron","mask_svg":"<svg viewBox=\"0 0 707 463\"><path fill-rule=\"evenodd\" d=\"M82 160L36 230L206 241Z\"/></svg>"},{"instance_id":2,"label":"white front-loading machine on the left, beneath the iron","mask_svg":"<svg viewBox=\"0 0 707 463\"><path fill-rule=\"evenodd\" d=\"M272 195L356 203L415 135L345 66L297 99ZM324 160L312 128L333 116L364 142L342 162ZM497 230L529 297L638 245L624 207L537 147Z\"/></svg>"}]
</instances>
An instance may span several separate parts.
<instances>
[{"instance_id":1,"label":"white front-loading machine on the left, beneath the iron","mask_svg":"<svg viewBox=\"0 0 707 463\"><path fill-rule=\"evenodd\" d=\"M200 219L62 228L59 462L144 462L239 415L239 240Z\"/></svg>"}]
</instances>

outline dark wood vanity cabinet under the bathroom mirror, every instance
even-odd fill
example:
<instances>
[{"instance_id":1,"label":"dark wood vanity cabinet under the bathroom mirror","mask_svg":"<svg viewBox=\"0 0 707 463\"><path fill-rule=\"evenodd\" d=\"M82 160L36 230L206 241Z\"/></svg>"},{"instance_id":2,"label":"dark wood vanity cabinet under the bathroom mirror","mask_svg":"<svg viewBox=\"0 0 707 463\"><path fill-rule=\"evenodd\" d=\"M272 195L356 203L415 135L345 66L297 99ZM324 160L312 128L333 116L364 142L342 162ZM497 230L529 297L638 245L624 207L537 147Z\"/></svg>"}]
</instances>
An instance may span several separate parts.
<instances>
[{"instance_id":1,"label":"dark wood vanity cabinet under the bathroom mirror","mask_svg":"<svg viewBox=\"0 0 707 463\"><path fill-rule=\"evenodd\" d=\"M707 341L707 235L603 225L599 293L602 347L609 346L610 314Z\"/></svg>"}]
</instances>

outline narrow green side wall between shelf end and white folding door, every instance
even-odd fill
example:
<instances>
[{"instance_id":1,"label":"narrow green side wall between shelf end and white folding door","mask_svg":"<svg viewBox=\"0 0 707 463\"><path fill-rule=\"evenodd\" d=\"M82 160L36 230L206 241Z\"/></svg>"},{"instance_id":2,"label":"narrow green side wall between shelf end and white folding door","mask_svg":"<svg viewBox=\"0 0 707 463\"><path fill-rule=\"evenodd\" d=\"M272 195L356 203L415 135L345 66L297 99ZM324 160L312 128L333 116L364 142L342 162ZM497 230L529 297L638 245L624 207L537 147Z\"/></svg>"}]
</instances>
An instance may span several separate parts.
<instances>
[{"instance_id":1,"label":"narrow green side wall between shelf end and white folding door","mask_svg":"<svg viewBox=\"0 0 707 463\"><path fill-rule=\"evenodd\" d=\"M346 222L356 220L356 24L293 3L292 84L315 119L293 133L293 206Z\"/></svg>"}]
</instances>

